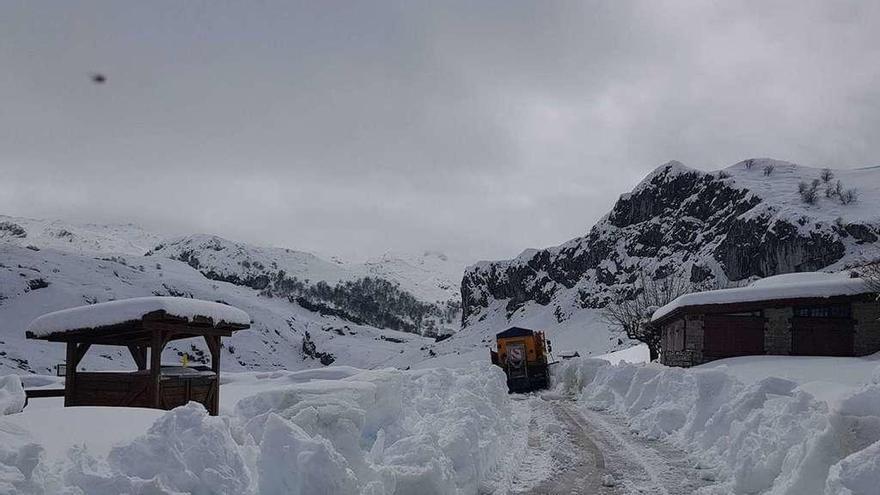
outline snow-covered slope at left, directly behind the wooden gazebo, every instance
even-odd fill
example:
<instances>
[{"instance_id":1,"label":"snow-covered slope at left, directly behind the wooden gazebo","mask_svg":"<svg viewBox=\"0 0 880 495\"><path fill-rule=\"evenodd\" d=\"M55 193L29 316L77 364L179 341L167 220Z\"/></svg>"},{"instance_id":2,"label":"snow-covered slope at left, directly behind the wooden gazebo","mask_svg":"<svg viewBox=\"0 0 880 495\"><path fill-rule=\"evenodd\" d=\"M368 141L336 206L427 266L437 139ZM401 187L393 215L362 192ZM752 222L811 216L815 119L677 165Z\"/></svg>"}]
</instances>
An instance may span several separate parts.
<instances>
[{"instance_id":1,"label":"snow-covered slope at left, directly behind the wooden gazebo","mask_svg":"<svg viewBox=\"0 0 880 495\"><path fill-rule=\"evenodd\" d=\"M247 312L253 318L251 329L224 340L225 369L297 370L331 360L372 368L401 353L420 353L433 342L260 296L249 287L210 280L179 261L155 256L100 258L0 243L0 371L50 373L64 360L62 345L25 340L25 328L34 318L83 304L151 295L221 301ZM200 342L183 340L171 343L166 352L169 362L183 352L200 361L205 350ZM133 363L125 349L96 347L86 354L84 366L116 369Z\"/></svg>"}]
</instances>

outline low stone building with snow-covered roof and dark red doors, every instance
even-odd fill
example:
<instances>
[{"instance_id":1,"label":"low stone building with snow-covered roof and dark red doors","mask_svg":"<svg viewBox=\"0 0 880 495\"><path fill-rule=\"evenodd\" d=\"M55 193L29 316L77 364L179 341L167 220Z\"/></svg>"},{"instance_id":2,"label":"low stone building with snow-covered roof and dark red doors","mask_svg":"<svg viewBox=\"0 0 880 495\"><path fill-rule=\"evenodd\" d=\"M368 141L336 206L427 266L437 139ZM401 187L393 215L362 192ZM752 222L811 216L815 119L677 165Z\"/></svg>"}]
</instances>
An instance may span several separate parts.
<instances>
[{"instance_id":1,"label":"low stone building with snow-covered roof and dark red doors","mask_svg":"<svg viewBox=\"0 0 880 495\"><path fill-rule=\"evenodd\" d=\"M795 273L682 296L658 309L660 362L694 366L760 354L864 356L880 351L880 302L846 273Z\"/></svg>"}]
</instances>

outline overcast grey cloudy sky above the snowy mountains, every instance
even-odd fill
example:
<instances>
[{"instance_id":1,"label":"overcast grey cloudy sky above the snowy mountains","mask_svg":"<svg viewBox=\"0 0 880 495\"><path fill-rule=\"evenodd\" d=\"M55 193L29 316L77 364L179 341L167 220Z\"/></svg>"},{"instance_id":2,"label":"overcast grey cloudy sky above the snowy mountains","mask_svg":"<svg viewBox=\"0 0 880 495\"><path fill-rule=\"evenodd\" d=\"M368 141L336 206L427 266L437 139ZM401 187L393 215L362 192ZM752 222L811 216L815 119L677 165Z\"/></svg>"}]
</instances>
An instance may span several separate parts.
<instances>
[{"instance_id":1,"label":"overcast grey cloudy sky above the snowy mountains","mask_svg":"<svg viewBox=\"0 0 880 495\"><path fill-rule=\"evenodd\" d=\"M8 215L500 259L669 160L880 165L880 2L9 1L0 30Z\"/></svg>"}]
</instances>

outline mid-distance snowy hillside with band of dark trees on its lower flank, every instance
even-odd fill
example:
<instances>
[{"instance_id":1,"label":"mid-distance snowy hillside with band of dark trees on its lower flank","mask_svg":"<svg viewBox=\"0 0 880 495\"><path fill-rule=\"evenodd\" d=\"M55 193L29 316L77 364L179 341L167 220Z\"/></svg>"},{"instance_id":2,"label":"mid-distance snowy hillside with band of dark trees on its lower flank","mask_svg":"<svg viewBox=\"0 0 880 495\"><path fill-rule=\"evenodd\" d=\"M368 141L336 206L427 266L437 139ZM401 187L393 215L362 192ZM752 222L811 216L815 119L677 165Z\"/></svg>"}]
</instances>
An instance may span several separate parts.
<instances>
[{"instance_id":1,"label":"mid-distance snowy hillside with band of dark trees on its lower flank","mask_svg":"<svg viewBox=\"0 0 880 495\"><path fill-rule=\"evenodd\" d=\"M366 264L329 262L310 253L212 235L170 239L147 256L183 261L211 280L286 298L354 323L426 335L451 333L457 327L458 292L424 263L390 256Z\"/></svg>"}]
</instances>

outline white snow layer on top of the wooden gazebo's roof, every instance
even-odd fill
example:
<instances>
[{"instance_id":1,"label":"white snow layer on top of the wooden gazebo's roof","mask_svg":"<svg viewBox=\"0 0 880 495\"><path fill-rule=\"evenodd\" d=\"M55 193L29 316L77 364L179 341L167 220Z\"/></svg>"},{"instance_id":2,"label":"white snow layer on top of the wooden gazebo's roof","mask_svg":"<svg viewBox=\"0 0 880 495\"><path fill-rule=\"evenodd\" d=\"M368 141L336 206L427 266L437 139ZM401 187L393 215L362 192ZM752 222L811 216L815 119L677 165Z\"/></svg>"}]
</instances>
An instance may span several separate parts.
<instances>
[{"instance_id":1,"label":"white snow layer on top of the wooden gazebo's roof","mask_svg":"<svg viewBox=\"0 0 880 495\"><path fill-rule=\"evenodd\" d=\"M45 337L71 330L117 325L140 320L156 311L187 320L197 316L211 318L214 326L221 322L233 325L250 325L251 322L247 313L226 304L186 297L135 297L47 313L32 321L26 334Z\"/></svg>"}]
</instances>

